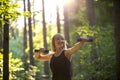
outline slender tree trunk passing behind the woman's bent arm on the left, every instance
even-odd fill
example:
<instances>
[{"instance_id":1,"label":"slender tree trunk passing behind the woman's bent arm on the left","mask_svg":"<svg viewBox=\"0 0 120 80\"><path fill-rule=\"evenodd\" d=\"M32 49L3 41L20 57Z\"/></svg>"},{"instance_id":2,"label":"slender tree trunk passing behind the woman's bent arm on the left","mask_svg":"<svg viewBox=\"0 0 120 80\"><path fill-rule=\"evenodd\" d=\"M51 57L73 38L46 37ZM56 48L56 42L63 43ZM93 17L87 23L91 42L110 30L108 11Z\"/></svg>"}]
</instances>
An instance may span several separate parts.
<instances>
[{"instance_id":1,"label":"slender tree trunk passing behind the woman's bent arm on the left","mask_svg":"<svg viewBox=\"0 0 120 80\"><path fill-rule=\"evenodd\" d=\"M46 22L45 22L45 7L44 7L44 0L42 0L42 17L43 17L43 41L44 41L44 48L47 49L47 40L46 40ZM45 80L49 80L49 67L48 61L44 62L44 77Z\"/></svg>"}]
</instances>

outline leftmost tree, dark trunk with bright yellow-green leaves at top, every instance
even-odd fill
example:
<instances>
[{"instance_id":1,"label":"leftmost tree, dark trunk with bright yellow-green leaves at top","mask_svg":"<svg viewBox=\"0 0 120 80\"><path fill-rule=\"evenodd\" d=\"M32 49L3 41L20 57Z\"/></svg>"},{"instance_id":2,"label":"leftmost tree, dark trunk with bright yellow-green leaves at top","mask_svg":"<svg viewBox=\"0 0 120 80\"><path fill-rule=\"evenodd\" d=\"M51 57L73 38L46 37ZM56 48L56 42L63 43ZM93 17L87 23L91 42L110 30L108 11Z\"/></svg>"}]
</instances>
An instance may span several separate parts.
<instances>
[{"instance_id":1,"label":"leftmost tree, dark trunk with bright yellow-green leaves at top","mask_svg":"<svg viewBox=\"0 0 120 80\"><path fill-rule=\"evenodd\" d=\"M18 11L16 11L15 8L17 6L10 4L9 0L3 0L0 1L2 3L0 15L3 17L3 29L4 29L4 35L3 35L3 80L9 80L9 21L16 20L18 15L20 14ZM10 12L10 10L12 12ZM15 15L15 16L14 16Z\"/></svg>"}]
</instances>

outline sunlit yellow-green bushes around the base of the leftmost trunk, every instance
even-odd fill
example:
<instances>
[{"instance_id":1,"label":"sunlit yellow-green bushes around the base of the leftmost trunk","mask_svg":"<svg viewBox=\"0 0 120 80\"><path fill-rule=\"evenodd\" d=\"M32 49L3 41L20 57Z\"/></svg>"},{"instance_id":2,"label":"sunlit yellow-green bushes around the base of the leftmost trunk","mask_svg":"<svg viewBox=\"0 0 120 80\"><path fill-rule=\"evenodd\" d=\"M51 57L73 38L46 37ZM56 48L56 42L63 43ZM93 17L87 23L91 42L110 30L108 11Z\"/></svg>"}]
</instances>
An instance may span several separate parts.
<instances>
[{"instance_id":1,"label":"sunlit yellow-green bushes around the base of the leftmost trunk","mask_svg":"<svg viewBox=\"0 0 120 80\"><path fill-rule=\"evenodd\" d=\"M38 72L37 67L30 66L28 71L24 72L23 62L19 58L13 58L12 53L9 53L9 71L10 71L10 80L34 80L36 72ZM3 75L3 55L0 53L0 80L2 80Z\"/></svg>"}]
</instances>

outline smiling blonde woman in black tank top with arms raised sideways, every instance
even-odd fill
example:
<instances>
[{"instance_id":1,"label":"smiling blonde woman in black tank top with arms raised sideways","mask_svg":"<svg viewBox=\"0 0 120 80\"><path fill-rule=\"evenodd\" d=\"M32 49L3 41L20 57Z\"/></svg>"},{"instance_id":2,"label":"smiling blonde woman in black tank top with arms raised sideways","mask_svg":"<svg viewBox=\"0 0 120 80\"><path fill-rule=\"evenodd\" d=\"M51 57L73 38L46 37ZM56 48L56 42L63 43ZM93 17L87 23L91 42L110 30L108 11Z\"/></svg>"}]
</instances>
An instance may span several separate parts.
<instances>
[{"instance_id":1,"label":"smiling blonde woman in black tank top with arms raised sideways","mask_svg":"<svg viewBox=\"0 0 120 80\"><path fill-rule=\"evenodd\" d=\"M35 53L34 58L36 60L50 60L52 80L71 80L71 55L80 49L86 41L86 39L82 39L67 49L64 36L57 33L52 38L52 51L42 55L45 49L41 48Z\"/></svg>"}]
</instances>

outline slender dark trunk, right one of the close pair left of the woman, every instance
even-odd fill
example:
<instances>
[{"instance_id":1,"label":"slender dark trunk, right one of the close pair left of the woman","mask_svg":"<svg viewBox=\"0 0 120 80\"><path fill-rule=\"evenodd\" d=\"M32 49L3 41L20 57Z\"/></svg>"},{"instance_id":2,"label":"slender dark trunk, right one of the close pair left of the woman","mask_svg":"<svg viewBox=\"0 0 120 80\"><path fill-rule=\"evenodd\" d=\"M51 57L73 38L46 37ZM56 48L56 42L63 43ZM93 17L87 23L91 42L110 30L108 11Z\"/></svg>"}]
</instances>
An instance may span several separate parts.
<instances>
[{"instance_id":1,"label":"slender dark trunk, right one of the close pair left of the woman","mask_svg":"<svg viewBox=\"0 0 120 80\"><path fill-rule=\"evenodd\" d=\"M30 8L31 8L30 0L28 0L28 11L31 14L31 9ZM28 26L29 26L30 65L34 65L31 15L28 18Z\"/></svg>"}]
</instances>

